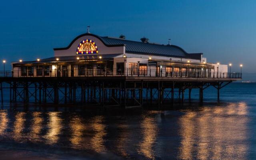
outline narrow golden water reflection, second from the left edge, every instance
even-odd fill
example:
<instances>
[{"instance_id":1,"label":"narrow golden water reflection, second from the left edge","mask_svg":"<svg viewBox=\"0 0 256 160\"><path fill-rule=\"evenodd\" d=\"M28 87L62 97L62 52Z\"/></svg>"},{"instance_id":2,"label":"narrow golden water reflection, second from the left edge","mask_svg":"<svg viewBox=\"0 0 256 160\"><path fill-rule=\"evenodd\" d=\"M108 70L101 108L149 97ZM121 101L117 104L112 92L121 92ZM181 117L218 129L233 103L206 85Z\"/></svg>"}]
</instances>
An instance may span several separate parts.
<instances>
[{"instance_id":1,"label":"narrow golden water reflection, second from the left edge","mask_svg":"<svg viewBox=\"0 0 256 160\"><path fill-rule=\"evenodd\" d=\"M24 112L18 112L15 115L15 121L14 121L14 128L13 128L13 138L14 140L21 140L22 138L22 130L24 129L24 122L25 122L25 113Z\"/></svg>"}]
</instances>

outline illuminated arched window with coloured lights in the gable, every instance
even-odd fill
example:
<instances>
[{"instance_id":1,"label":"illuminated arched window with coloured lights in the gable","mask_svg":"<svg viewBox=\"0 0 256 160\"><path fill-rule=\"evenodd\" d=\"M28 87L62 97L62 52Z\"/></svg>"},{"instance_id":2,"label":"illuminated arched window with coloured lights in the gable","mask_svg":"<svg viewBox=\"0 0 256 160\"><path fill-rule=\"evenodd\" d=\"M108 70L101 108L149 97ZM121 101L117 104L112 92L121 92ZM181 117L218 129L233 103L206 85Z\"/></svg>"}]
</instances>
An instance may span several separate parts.
<instances>
[{"instance_id":1,"label":"illuminated arched window with coloured lights in the gable","mask_svg":"<svg viewBox=\"0 0 256 160\"><path fill-rule=\"evenodd\" d=\"M78 44L76 54L92 54L98 53L98 48L92 40L85 39Z\"/></svg>"}]
</instances>

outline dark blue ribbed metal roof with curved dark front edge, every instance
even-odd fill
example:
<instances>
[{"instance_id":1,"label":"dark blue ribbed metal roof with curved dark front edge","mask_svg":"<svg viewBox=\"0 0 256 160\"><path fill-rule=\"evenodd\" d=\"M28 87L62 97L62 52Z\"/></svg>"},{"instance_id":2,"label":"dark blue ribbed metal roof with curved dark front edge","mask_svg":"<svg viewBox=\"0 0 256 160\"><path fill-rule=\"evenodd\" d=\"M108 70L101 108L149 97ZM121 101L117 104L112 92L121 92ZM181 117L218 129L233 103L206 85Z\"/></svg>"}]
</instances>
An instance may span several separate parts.
<instances>
[{"instance_id":1,"label":"dark blue ribbed metal roof with curved dark front edge","mask_svg":"<svg viewBox=\"0 0 256 160\"><path fill-rule=\"evenodd\" d=\"M70 48L75 40L82 36L95 36L99 38L106 46L126 46L126 53L138 53L138 54L147 54L147 55L156 55L156 56L170 56L170 57L180 57L180 58L192 58L192 59L201 59L202 53L193 53L189 54L182 48L175 45L161 45L155 43L144 43L132 40L125 40L121 38L111 38L111 37L102 37L94 34L86 33L76 37L68 47L66 48L54 48L54 50L65 50Z\"/></svg>"}]
</instances>

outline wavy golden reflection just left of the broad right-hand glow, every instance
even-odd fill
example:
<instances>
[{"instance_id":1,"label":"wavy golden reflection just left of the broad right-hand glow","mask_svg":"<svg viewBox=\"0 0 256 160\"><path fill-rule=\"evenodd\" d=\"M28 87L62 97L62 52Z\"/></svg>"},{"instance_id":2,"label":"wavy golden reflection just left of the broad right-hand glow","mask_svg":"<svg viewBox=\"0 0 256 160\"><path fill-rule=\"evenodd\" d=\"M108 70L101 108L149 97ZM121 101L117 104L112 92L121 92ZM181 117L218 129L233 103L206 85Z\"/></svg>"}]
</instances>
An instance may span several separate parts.
<instances>
[{"instance_id":1,"label":"wavy golden reflection just left of the broad right-hand glow","mask_svg":"<svg viewBox=\"0 0 256 160\"><path fill-rule=\"evenodd\" d=\"M139 146L139 153L146 158L155 159L154 143L156 142L157 126L154 118L145 117L141 123L143 140Z\"/></svg>"}]
</instances>

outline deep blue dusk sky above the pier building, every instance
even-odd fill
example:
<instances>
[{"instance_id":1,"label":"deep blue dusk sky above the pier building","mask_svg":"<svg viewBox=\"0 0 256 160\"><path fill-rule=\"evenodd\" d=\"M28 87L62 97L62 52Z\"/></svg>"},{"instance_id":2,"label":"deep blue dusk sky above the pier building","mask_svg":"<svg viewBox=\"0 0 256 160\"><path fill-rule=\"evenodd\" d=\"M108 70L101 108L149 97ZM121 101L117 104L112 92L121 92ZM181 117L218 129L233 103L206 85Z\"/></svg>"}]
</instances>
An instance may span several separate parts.
<instances>
[{"instance_id":1,"label":"deep blue dusk sky above the pier building","mask_svg":"<svg viewBox=\"0 0 256 160\"><path fill-rule=\"evenodd\" d=\"M256 73L254 0L12 0L0 4L0 60L54 55L78 35L126 36L203 53L208 62ZM0 66L0 70L3 68Z\"/></svg>"}]
</instances>

